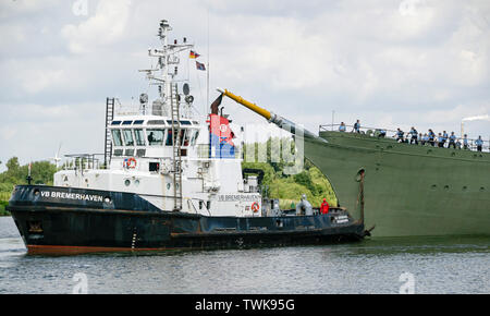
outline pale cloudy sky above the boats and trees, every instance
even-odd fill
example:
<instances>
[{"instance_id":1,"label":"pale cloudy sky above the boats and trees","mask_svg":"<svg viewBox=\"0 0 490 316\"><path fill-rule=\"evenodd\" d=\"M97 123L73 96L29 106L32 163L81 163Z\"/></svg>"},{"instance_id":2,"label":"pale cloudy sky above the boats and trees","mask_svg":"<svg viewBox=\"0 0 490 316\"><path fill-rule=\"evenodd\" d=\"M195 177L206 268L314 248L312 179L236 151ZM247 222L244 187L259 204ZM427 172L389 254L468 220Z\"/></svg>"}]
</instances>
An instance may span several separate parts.
<instances>
[{"instance_id":1,"label":"pale cloudy sky above the boats and trees","mask_svg":"<svg viewBox=\"0 0 490 316\"><path fill-rule=\"evenodd\" d=\"M209 61L210 101L228 88L315 133L332 114L456 134L473 118L464 132L490 138L488 0L1 0L0 171L60 146L103 153L106 98L149 92L138 70L162 19ZM206 73L183 73L204 112ZM223 105L237 125L267 124Z\"/></svg>"}]
</instances>

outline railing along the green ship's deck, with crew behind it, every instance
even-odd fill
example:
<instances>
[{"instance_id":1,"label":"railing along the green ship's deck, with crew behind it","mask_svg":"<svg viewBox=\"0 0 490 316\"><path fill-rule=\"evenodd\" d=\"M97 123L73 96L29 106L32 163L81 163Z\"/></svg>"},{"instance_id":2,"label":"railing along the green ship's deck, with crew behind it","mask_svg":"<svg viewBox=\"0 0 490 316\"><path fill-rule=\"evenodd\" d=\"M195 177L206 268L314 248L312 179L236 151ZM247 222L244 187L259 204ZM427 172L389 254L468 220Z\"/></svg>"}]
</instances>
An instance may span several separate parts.
<instances>
[{"instance_id":1,"label":"railing along the green ship's deck, with crew behind it","mask_svg":"<svg viewBox=\"0 0 490 316\"><path fill-rule=\"evenodd\" d=\"M341 126L341 124L324 124L324 125L320 125L319 131L320 132L326 132L326 131L332 131L332 132L338 132L338 133L356 133L354 131L354 125L345 125L345 132L340 132L339 127ZM387 130L387 129L379 129L379 127L367 127L367 126L360 126L359 129L359 133L364 134L364 135L368 135L371 137L380 137L380 131L384 131L385 132L385 136L384 138L390 138L390 139L397 139L397 135L395 130ZM404 139L408 141L408 145L409 145L409 141L411 141L411 134L407 131L404 131ZM419 133L420 134L420 133ZM425 133L422 133L425 134ZM438 135L436 135L434 137L434 145L437 146L438 144ZM477 150L477 145L475 144L475 142L477 141L476 138L467 138L468 139L468 148L467 150ZM418 137L418 145L421 145L421 139L420 136ZM456 142L460 141L461 143L461 148L463 149L463 138L462 137L457 137ZM415 144L413 144L415 145ZM426 142L425 146L431 146L428 142ZM444 148L449 148L449 139L445 141L444 143ZM458 148L456 146L456 148ZM482 145L482 151L485 153L490 153L490 141L485 141L483 139L483 145Z\"/></svg>"}]
</instances>

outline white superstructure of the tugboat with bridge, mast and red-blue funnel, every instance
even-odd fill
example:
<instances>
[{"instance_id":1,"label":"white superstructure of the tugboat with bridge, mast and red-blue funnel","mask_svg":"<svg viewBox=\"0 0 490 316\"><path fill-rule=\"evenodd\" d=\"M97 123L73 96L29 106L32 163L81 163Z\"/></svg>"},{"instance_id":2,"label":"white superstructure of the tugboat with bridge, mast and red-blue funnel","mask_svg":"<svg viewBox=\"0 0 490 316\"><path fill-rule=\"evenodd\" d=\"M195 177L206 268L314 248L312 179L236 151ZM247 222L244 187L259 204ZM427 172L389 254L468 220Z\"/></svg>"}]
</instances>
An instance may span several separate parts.
<instances>
[{"instance_id":1,"label":"white superstructure of the tugboat with bridge, mast and red-blue funnel","mask_svg":"<svg viewBox=\"0 0 490 316\"><path fill-rule=\"evenodd\" d=\"M71 170L54 175L54 185L132 192L163 210L259 216L252 205L261 208L260 195L245 192L242 161L234 155L232 137L221 139L229 145L226 153L211 146L209 125L197 118L189 85L179 77L181 54L188 56L193 45L186 39L169 44L169 31L168 22L161 21L158 36L162 48L148 51L157 59L157 68L143 71L158 88L158 98L150 107L148 95L142 94L138 114L117 114L109 122L112 155L108 169L87 170L79 166L83 157L75 156L66 168ZM219 124L217 136L233 135L228 120L217 119L212 116L208 121L211 129Z\"/></svg>"}]
</instances>

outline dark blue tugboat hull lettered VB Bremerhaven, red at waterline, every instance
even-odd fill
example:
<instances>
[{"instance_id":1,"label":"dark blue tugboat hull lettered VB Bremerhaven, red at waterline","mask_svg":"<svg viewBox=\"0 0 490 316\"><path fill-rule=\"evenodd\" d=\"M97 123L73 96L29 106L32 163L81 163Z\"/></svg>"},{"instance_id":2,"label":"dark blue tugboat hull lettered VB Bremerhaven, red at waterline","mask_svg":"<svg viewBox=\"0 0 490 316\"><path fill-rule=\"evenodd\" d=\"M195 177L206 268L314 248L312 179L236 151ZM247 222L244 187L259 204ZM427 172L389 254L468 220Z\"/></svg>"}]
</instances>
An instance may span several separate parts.
<instances>
[{"instance_id":1,"label":"dark blue tugboat hull lettered VB Bremerhaven, red at waterline","mask_svg":"<svg viewBox=\"0 0 490 316\"><path fill-rule=\"evenodd\" d=\"M137 194L69 187L17 186L8 209L29 254L324 244L365 235L363 223L340 212L210 217L162 211Z\"/></svg>"}]
</instances>

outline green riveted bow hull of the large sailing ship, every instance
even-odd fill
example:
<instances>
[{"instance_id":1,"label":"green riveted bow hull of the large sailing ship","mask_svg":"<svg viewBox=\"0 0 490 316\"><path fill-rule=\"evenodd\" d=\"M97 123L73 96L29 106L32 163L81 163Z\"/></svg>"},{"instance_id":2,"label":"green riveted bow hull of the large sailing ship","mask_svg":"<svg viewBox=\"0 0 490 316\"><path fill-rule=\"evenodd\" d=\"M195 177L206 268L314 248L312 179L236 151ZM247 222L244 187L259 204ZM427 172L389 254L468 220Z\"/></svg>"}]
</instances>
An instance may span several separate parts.
<instances>
[{"instance_id":1,"label":"green riveted bow hull of the large sailing ship","mask_svg":"<svg viewBox=\"0 0 490 316\"><path fill-rule=\"evenodd\" d=\"M305 157L329 179L341 206L359 212L373 236L490 234L490 154L400 144L323 131Z\"/></svg>"}]
</instances>

